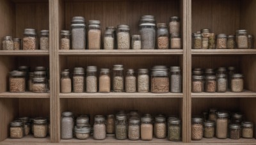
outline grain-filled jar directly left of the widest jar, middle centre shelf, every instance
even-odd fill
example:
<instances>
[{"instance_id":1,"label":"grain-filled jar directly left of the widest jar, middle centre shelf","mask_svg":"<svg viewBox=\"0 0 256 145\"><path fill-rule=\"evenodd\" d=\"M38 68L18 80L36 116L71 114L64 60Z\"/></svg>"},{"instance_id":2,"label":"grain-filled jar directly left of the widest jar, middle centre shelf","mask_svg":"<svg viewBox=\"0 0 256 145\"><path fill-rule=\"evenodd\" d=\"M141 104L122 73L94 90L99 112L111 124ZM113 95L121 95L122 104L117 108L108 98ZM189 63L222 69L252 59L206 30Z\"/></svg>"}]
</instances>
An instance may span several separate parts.
<instances>
[{"instance_id":1,"label":"grain-filled jar directly left of the widest jar, middle centre shelf","mask_svg":"<svg viewBox=\"0 0 256 145\"><path fill-rule=\"evenodd\" d=\"M148 69L138 69L138 92L149 92L149 76Z\"/></svg>"}]
</instances>

